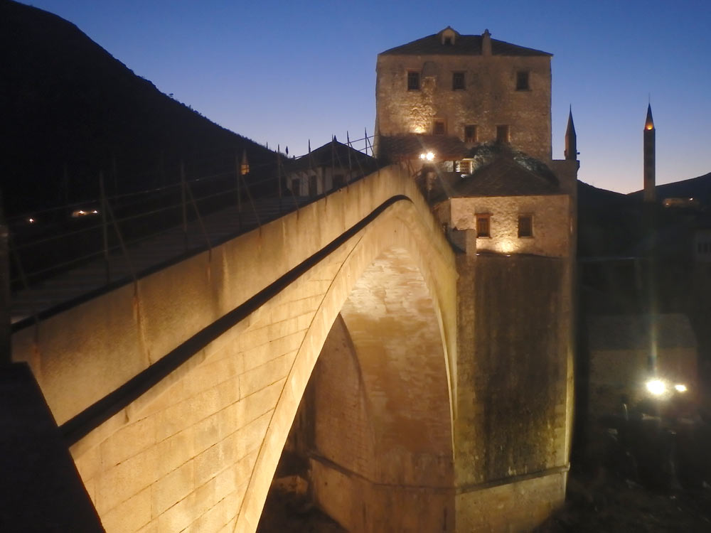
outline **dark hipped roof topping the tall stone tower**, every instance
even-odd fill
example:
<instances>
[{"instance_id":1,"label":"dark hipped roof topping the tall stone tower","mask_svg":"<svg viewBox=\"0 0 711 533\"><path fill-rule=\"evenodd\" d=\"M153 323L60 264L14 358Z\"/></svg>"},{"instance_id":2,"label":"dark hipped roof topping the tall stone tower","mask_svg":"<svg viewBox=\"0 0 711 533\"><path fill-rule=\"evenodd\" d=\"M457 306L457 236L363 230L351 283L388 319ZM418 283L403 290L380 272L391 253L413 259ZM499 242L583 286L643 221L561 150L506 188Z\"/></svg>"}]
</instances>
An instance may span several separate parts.
<instances>
[{"instance_id":1,"label":"dark hipped roof topping the tall stone tower","mask_svg":"<svg viewBox=\"0 0 711 533\"><path fill-rule=\"evenodd\" d=\"M440 32L441 33L441 32ZM480 35L457 35L454 44L442 44L440 33L385 50L379 55L481 55ZM491 39L491 55L543 55L551 53Z\"/></svg>"}]
</instances>

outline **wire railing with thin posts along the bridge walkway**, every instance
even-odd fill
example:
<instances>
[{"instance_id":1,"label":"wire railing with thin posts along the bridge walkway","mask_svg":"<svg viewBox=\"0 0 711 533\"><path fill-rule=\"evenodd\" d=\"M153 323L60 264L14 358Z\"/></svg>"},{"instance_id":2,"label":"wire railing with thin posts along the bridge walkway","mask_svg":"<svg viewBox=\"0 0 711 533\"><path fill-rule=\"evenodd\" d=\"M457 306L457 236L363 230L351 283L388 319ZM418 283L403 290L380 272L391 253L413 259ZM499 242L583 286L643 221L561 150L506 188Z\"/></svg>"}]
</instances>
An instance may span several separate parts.
<instances>
[{"instance_id":1,"label":"wire railing with thin posts along the bridge walkway","mask_svg":"<svg viewBox=\"0 0 711 533\"><path fill-rule=\"evenodd\" d=\"M97 197L7 220L11 290L16 295L87 264L102 265L100 285L135 281L149 266L138 259L137 249L143 244L156 247L163 236L166 241L172 239L174 257L191 250L210 250L218 242L299 209L370 173L373 168L363 165L363 158L354 154L372 154L373 137L365 134L351 141L346 134L346 138L346 146L354 152L342 157L333 137L331 175L341 168L350 179L306 195L294 186L290 173L299 160L311 167L310 151L299 159L274 152L273 163L256 166L250 166L246 154L232 154L229 167L190 179L181 163L178 176L171 176L173 183L112 195L107 194L105 175L99 172ZM358 144L360 150L354 148ZM224 216L220 218L218 213ZM182 241L179 244L176 236ZM25 314L36 315L37 311L33 308Z\"/></svg>"}]
</instances>

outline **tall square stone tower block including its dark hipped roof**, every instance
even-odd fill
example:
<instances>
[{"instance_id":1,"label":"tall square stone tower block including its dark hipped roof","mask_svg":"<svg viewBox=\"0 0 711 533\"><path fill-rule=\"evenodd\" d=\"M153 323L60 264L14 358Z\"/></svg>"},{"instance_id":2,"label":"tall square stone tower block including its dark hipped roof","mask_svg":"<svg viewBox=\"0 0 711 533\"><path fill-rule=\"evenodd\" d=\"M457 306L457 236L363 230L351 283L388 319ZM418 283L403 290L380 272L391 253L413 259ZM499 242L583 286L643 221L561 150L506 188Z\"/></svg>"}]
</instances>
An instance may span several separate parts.
<instances>
[{"instance_id":1,"label":"tall square stone tower block including its dark hipped roof","mask_svg":"<svg viewBox=\"0 0 711 533\"><path fill-rule=\"evenodd\" d=\"M550 159L549 53L451 28L378 55L375 131L510 143ZM378 154L382 156L383 154Z\"/></svg>"}]
</instances>

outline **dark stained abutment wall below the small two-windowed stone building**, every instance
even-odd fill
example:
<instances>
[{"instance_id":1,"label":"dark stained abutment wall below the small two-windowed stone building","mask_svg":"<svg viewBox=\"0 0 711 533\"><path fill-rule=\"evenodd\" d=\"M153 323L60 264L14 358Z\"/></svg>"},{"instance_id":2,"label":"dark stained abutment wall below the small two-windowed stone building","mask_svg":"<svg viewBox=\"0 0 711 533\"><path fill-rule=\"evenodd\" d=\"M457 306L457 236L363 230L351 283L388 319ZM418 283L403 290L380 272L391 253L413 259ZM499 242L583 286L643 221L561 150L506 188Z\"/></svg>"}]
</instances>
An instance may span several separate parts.
<instances>
[{"instance_id":1,"label":"dark stained abutment wall below the small two-windowed stone building","mask_svg":"<svg viewBox=\"0 0 711 533\"><path fill-rule=\"evenodd\" d=\"M567 262L481 256L458 263L458 484L567 467Z\"/></svg>"}]
</instances>

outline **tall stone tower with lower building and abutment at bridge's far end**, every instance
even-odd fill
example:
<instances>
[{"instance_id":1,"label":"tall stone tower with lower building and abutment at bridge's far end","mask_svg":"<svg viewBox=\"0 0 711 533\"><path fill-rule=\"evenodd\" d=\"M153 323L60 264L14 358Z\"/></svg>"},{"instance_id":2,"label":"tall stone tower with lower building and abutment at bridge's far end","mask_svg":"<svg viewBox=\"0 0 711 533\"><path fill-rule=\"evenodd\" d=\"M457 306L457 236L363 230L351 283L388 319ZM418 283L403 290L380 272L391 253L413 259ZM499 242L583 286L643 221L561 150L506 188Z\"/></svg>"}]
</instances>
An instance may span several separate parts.
<instances>
[{"instance_id":1,"label":"tall stone tower with lower building and abutment at bridge's far end","mask_svg":"<svg viewBox=\"0 0 711 533\"><path fill-rule=\"evenodd\" d=\"M450 27L378 55L376 154L457 252L447 531L530 531L565 499L579 163L572 113L551 157L550 60Z\"/></svg>"}]
</instances>

